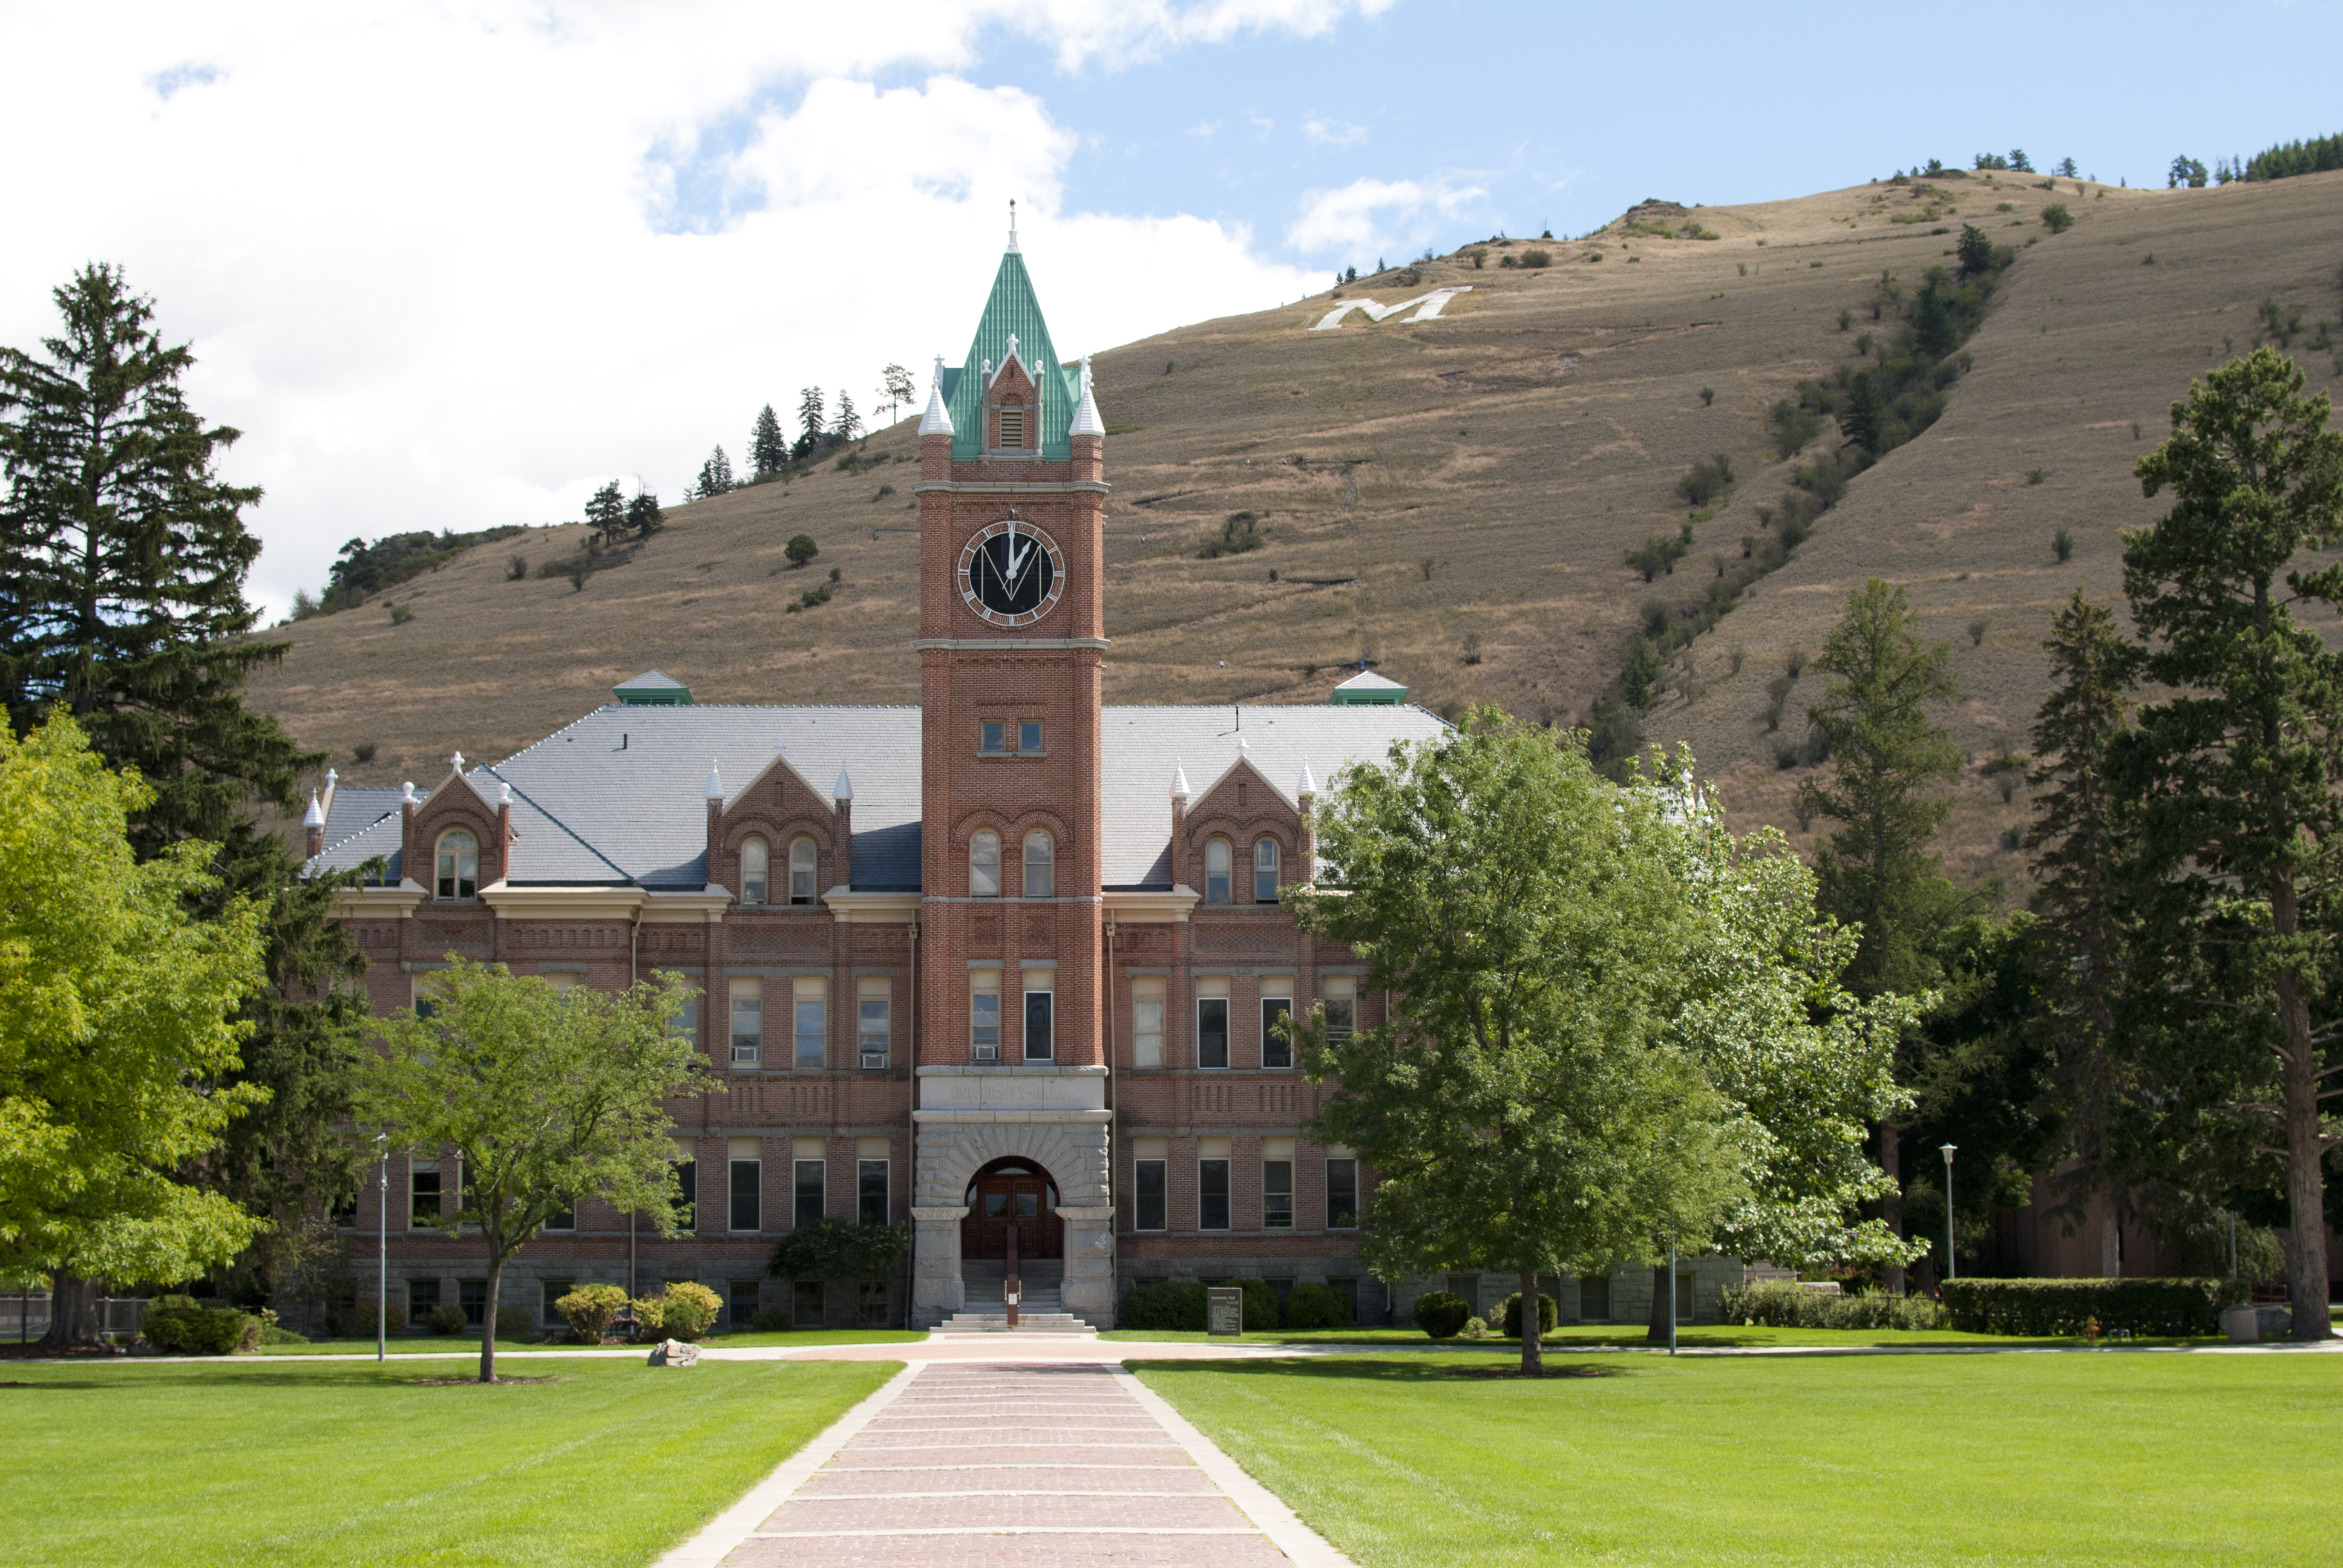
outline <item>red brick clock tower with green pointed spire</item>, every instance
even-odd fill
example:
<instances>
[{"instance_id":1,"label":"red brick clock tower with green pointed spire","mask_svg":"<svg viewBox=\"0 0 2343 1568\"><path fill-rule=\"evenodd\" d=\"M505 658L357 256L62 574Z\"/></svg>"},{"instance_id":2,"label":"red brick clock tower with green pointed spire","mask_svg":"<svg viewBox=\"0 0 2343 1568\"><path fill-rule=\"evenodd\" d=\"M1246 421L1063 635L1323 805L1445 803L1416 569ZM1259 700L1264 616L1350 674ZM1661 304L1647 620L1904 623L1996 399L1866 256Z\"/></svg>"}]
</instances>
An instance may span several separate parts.
<instances>
[{"instance_id":1,"label":"red brick clock tower with green pointed spire","mask_svg":"<svg viewBox=\"0 0 2343 1568\"><path fill-rule=\"evenodd\" d=\"M923 1315L961 1308L968 1277L1007 1266L1012 1235L1024 1280L1064 1275L1064 1310L1115 1303L1104 466L1089 368L1057 359L1012 225L968 359L937 359L918 424Z\"/></svg>"}]
</instances>

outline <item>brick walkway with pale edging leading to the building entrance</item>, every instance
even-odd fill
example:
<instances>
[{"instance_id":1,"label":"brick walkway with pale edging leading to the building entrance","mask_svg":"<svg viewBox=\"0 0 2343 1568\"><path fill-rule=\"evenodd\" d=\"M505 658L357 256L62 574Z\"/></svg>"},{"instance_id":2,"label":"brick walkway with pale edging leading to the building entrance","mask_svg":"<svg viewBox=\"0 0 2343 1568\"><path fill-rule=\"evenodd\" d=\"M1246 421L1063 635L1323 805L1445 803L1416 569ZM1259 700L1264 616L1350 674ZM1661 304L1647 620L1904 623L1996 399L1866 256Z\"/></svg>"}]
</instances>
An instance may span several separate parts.
<instances>
[{"instance_id":1,"label":"brick walkway with pale edging leading to the building entrance","mask_svg":"<svg viewBox=\"0 0 2343 1568\"><path fill-rule=\"evenodd\" d=\"M1296 1559L1345 1563L1127 1373L925 1364L722 1563L1289 1568Z\"/></svg>"}]
</instances>

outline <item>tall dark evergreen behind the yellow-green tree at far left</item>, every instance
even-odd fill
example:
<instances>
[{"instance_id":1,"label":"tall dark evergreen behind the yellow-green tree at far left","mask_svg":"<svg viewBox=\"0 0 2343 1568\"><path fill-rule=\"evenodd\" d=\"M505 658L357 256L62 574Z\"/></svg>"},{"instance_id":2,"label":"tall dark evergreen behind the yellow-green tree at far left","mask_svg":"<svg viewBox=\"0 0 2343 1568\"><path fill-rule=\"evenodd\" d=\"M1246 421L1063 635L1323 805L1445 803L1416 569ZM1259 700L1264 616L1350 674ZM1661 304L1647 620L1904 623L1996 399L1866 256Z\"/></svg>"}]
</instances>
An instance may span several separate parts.
<instances>
[{"instance_id":1,"label":"tall dark evergreen behind the yellow-green tree at far left","mask_svg":"<svg viewBox=\"0 0 2343 1568\"><path fill-rule=\"evenodd\" d=\"M298 1230L354 1184L335 1134L347 1118L354 1024L349 980L366 961L328 916L335 884L302 884L284 837L253 802L298 806L323 764L274 717L244 705L253 668L284 642L253 642L244 577L260 541L244 527L258 488L227 485L216 457L237 441L185 403L185 345L155 333L152 300L94 265L54 293L63 333L42 354L0 349L0 673L7 717L26 734L68 708L108 766L136 766L152 792L129 823L136 853L216 846L197 912L265 907L267 984L246 998L239 1064L209 1092L255 1102L206 1153L199 1179ZM194 884L192 884L194 886ZM258 1090L251 1092L248 1090ZM267 1259L267 1254L251 1254Z\"/></svg>"}]
</instances>

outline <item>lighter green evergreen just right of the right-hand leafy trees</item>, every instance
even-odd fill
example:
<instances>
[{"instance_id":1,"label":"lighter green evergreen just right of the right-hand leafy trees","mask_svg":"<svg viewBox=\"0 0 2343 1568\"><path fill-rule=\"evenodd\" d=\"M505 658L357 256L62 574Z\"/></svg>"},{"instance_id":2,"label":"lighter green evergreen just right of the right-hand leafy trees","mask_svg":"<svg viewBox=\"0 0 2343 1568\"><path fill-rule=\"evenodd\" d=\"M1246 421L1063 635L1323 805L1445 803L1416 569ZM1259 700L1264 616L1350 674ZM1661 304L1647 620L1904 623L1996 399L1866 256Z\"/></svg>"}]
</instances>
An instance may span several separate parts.
<instances>
[{"instance_id":1,"label":"lighter green evergreen just right of the right-hand leafy trees","mask_svg":"<svg viewBox=\"0 0 2343 1568\"><path fill-rule=\"evenodd\" d=\"M1952 813L1938 790L1961 766L1952 736L1928 708L1959 694L1952 647L1919 638L1919 612L1903 584L1877 577L1846 598L1846 619L1823 645L1816 668L1837 680L1806 710L1830 743L1830 780L1799 785L1799 811L1839 823L1816 853L1816 907L1860 926L1863 940L1846 966L1856 996L1919 994L1935 984L1933 947L1954 912L1954 888L1931 848ZM1905 1036L1898 1080L1919 1073L1924 1041ZM1903 1233L1903 1130L1879 1125L1879 1165L1898 1191L1881 1200L1888 1226ZM1888 1270L1903 1287L1903 1268Z\"/></svg>"}]
</instances>

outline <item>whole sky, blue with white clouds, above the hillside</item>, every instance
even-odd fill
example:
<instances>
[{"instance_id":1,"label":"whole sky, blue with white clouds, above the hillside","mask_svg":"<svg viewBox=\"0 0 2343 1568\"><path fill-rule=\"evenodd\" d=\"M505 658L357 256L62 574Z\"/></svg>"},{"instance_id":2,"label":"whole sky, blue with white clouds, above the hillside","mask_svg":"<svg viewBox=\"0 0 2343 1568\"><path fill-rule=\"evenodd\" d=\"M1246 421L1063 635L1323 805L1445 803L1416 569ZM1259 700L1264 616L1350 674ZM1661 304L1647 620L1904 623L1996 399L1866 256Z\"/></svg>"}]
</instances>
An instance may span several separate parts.
<instances>
[{"instance_id":1,"label":"whole sky, blue with white clouds, above the hillside","mask_svg":"<svg viewBox=\"0 0 2343 1568\"><path fill-rule=\"evenodd\" d=\"M1071 354L1642 197L2010 148L2163 183L2343 131L2338 45L2343 0L26 2L0 340L122 263L246 431L281 609L349 537L672 499L766 401L869 408L965 349L1010 197Z\"/></svg>"}]
</instances>

